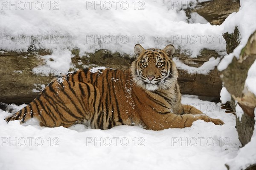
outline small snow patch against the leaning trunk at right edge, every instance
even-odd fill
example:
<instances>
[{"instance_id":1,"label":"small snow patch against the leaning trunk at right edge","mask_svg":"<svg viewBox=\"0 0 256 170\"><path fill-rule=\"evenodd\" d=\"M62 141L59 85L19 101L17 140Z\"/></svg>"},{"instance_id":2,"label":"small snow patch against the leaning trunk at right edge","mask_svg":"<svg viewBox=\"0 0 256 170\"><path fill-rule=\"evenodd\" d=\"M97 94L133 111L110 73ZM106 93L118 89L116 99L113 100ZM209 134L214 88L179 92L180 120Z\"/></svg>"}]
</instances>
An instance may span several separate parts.
<instances>
[{"instance_id":1,"label":"small snow patch against the leaning trunk at right edge","mask_svg":"<svg viewBox=\"0 0 256 170\"><path fill-rule=\"evenodd\" d=\"M250 66L247 72L247 78L245 80L245 87L256 95L256 61Z\"/></svg>"}]
</instances>

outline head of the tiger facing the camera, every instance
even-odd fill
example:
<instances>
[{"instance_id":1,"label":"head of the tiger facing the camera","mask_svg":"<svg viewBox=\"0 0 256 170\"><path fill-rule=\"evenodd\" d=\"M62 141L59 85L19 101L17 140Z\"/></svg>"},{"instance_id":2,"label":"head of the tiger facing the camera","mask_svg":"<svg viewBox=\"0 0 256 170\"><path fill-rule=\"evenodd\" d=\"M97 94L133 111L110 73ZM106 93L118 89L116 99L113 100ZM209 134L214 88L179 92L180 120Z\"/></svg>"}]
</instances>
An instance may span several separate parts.
<instances>
[{"instance_id":1,"label":"head of the tiger facing the camera","mask_svg":"<svg viewBox=\"0 0 256 170\"><path fill-rule=\"evenodd\" d=\"M172 61L174 46L144 49L136 44L134 52L137 59L131 65L131 74L137 86L150 91L174 88L178 77L176 65Z\"/></svg>"}]
</instances>

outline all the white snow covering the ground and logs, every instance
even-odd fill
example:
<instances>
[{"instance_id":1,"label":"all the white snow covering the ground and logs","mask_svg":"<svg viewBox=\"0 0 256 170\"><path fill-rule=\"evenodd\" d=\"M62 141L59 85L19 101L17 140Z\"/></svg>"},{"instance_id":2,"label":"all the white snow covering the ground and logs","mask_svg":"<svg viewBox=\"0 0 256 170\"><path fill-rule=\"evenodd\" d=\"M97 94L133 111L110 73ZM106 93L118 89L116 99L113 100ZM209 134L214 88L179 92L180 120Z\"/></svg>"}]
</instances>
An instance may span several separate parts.
<instances>
[{"instance_id":1,"label":"all the white snow covering the ground and logs","mask_svg":"<svg viewBox=\"0 0 256 170\"><path fill-rule=\"evenodd\" d=\"M175 58L180 69L203 74L217 65L219 70L226 69L256 29L256 1L240 0L239 12L230 14L220 26L210 25L197 13L188 19L180 9L189 7L189 2L196 1L1 0L0 49L26 51L31 43L36 48L51 49L51 55L42 57L45 65L34 68L47 74L49 69L67 72L72 67L73 48L80 49L81 56L96 49L133 54L136 43L145 48L164 48L172 43L191 57L197 57L204 48L224 56L221 63L219 58L210 58L200 68L186 66ZM241 43L227 55L222 34L232 33L235 26ZM245 84L254 94L255 69L254 62ZM224 103L230 100L225 88L221 99ZM23 125L18 121L7 124L4 118L9 113L1 111L0 169L226 169L225 163L241 169L256 163L256 130L251 142L239 149L234 115L224 113L220 104L195 96L185 95L182 102L225 124L196 121L190 128L162 131L128 126L105 131L84 125L47 128L33 120Z\"/></svg>"}]
</instances>

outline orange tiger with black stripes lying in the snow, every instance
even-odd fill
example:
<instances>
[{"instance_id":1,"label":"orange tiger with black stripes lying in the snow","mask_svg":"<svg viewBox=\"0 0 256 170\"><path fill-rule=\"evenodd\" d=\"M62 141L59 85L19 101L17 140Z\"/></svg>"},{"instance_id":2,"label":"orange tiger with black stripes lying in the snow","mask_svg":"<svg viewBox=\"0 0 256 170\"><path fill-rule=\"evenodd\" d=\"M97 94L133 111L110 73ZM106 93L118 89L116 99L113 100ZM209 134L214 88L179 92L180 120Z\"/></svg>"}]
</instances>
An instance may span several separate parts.
<instances>
[{"instance_id":1,"label":"orange tiger with black stripes lying in the snow","mask_svg":"<svg viewBox=\"0 0 256 170\"><path fill-rule=\"evenodd\" d=\"M184 128L197 120L224 124L181 104L173 45L144 49L136 44L134 52L136 59L126 70L85 68L54 78L37 98L5 120L22 124L36 118L45 127L82 123L101 130L119 125Z\"/></svg>"}]
</instances>

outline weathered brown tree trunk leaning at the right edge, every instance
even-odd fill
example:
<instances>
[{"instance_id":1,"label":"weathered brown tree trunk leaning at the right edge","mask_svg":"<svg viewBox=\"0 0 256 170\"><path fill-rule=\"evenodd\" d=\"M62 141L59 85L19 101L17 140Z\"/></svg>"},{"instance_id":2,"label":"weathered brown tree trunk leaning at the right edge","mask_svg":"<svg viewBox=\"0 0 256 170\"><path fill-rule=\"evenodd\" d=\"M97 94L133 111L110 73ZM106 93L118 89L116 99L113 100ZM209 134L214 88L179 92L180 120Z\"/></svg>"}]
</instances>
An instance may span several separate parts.
<instances>
[{"instance_id":1,"label":"weathered brown tree trunk leaning at the right edge","mask_svg":"<svg viewBox=\"0 0 256 170\"><path fill-rule=\"evenodd\" d=\"M232 36L225 36L225 38L229 37ZM230 106L234 111L236 111L236 106L238 104L244 112L241 117L241 121L236 117L236 128L242 146L250 141L255 124L254 109L256 107L256 96L244 86L247 78L247 72L250 69L250 66L256 60L255 46L256 31L249 37L246 46L241 50L239 59L237 60L234 57L232 63L230 63L227 69L224 70L225 76L221 76L224 86L227 88L232 97ZM231 48L234 49L235 47L236 46Z\"/></svg>"}]
</instances>

